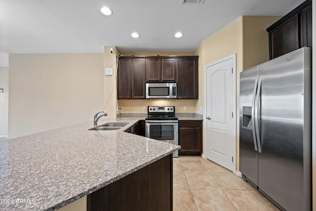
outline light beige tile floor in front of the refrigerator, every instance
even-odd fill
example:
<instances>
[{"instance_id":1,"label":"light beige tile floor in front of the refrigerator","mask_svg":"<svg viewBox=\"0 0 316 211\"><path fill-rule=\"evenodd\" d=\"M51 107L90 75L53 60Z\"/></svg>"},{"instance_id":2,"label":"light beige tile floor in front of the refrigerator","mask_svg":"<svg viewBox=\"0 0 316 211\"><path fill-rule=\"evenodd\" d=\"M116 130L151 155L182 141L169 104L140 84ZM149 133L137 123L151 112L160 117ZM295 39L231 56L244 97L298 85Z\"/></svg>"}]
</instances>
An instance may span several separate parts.
<instances>
[{"instance_id":1,"label":"light beige tile floor in front of the refrigerator","mask_svg":"<svg viewBox=\"0 0 316 211\"><path fill-rule=\"evenodd\" d=\"M173 158L174 211L279 211L242 178L200 156Z\"/></svg>"}]
</instances>

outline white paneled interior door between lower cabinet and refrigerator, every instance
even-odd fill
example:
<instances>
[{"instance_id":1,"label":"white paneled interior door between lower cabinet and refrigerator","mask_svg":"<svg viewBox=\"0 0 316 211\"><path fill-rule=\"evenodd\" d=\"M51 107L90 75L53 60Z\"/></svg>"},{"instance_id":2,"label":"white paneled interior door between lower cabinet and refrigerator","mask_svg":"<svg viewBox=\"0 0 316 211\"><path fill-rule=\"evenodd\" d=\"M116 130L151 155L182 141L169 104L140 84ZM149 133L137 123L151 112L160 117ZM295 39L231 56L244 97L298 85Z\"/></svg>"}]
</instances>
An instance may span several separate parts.
<instances>
[{"instance_id":1,"label":"white paneled interior door between lower cabinet and refrigerator","mask_svg":"<svg viewBox=\"0 0 316 211\"><path fill-rule=\"evenodd\" d=\"M236 172L236 54L205 65L206 158Z\"/></svg>"}]
</instances>

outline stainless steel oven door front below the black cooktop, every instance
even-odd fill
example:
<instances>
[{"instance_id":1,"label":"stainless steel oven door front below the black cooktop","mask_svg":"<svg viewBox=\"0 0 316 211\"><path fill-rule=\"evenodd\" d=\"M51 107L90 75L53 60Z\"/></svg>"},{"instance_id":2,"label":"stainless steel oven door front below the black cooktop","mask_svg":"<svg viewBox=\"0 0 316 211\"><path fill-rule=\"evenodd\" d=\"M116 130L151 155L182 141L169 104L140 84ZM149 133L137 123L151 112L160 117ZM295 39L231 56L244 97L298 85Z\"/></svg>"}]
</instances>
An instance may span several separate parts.
<instances>
[{"instance_id":1,"label":"stainless steel oven door front below the black cooktop","mask_svg":"<svg viewBox=\"0 0 316 211\"><path fill-rule=\"evenodd\" d=\"M145 136L178 145L178 125L177 120L146 120ZM173 155L173 157L178 157L178 151Z\"/></svg>"}]
</instances>

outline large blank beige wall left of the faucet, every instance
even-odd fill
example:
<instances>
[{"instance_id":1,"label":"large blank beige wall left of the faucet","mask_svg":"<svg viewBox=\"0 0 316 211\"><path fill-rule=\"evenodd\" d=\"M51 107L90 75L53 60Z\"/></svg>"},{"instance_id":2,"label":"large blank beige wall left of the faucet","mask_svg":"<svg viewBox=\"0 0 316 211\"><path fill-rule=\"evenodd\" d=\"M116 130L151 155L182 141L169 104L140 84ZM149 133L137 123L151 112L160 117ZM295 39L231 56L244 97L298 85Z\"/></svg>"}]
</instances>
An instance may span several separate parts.
<instances>
[{"instance_id":1,"label":"large blank beige wall left of the faucet","mask_svg":"<svg viewBox=\"0 0 316 211\"><path fill-rule=\"evenodd\" d=\"M92 121L103 110L103 53L9 55L9 138Z\"/></svg>"}]
</instances>

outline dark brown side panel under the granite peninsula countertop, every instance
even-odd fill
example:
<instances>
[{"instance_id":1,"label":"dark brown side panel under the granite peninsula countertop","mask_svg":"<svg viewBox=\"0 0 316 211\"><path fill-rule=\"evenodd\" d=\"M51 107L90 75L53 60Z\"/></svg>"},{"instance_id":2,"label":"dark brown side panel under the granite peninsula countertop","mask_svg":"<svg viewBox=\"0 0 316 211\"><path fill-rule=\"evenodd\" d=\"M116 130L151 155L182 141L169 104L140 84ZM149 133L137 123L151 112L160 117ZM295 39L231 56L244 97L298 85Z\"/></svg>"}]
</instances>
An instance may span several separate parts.
<instances>
[{"instance_id":1,"label":"dark brown side panel under the granite peninsula countertop","mask_svg":"<svg viewBox=\"0 0 316 211\"><path fill-rule=\"evenodd\" d=\"M89 194L87 211L172 211L172 154Z\"/></svg>"}]
</instances>

